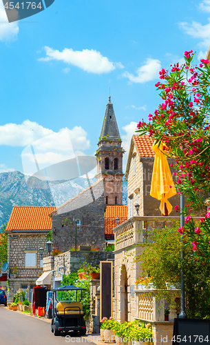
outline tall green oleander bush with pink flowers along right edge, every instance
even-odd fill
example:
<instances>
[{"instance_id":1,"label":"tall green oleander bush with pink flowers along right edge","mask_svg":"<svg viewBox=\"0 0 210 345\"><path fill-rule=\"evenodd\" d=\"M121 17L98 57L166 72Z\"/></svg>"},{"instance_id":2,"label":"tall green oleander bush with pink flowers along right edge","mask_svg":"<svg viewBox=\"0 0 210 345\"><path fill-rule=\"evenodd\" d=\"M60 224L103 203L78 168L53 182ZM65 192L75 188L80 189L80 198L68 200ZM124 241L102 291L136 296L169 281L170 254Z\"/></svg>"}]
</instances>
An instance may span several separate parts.
<instances>
[{"instance_id":1,"label":"tall green oleander bush with pink flowers along right edge","mask_svg":"<svg viewBox=\"0 0 210 345\"><path fill-rule=\"evenodd\" d=\"M156 83L162 103L149 114L149 123L140 121L137 132L153 137L167 157L176 159L176 189L185 193L191 210L205 210L210 190L210 97L209 60L196 65L196 53L185 52L185 63L162 69ZM173 164L171 164L172 166ZM187 218L179 229L195 257L210 259L210 212L195 224Z\"/></svg>"}]
</instances>

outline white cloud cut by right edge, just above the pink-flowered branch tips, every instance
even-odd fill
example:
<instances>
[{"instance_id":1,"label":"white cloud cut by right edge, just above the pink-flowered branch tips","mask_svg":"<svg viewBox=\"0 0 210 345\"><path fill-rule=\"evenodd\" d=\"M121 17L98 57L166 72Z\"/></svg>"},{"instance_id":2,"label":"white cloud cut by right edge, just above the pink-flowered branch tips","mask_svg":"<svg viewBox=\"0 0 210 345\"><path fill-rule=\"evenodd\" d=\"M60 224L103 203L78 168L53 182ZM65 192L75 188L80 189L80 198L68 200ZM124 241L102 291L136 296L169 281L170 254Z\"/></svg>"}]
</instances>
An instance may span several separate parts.
<instances>
[{"instance_id":1,"label":"white cloud cut by right edge, just above the pink-flowered branch tips","mask_svg":"<svg viewBox=\"0 0 210 345\"><path fill-rule=\"evenodd\" d=\"M198 23L197 21L193 21L192 23L187 22L180 22L180 28L185 31L186 34L189 36L200 39L199 45L204 48L209 48L210 44L210 19L209 23L203 25Z\"/></svg>"}]
</instances>

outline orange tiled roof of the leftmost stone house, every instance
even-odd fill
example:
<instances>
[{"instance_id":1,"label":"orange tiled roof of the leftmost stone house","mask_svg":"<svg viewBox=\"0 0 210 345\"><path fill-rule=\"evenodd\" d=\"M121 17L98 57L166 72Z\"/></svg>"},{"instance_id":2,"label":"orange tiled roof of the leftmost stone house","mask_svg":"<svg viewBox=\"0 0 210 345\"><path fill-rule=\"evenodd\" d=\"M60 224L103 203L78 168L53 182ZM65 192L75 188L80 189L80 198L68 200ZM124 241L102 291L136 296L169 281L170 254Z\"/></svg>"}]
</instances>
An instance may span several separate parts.
<instances>
[{"instance_id":1,"label":"orange tiled roof of the leftmost stone house","mask_svg":"<svg viewBox=\"0 0 210 345\"><path fill-rule=\"evenodd\" d=\"M6 231L11 230L52 230L49 217L54 206L13 206Z\"/></svg>"}]
</instances>

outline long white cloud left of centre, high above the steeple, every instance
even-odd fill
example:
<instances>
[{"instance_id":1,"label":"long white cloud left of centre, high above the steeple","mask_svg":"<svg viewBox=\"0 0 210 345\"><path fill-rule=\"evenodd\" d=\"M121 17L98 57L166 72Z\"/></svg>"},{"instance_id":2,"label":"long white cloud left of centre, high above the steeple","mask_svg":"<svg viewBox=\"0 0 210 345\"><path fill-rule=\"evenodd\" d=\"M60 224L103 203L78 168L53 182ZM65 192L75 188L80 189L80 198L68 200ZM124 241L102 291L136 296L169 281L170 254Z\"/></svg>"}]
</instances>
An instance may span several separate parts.
<instances>
[{"instance_id":1,"label":"long white cloud left of centre, high above the steeple","mask_svg":"<svg viewBox=\"0 0 210 345\"><path fill-rule=\"evenodd\" d=\"M123 68L122 63L114 63L107 57L103 57L101 52L96 50L83 49L82 51L73 50L72 48L64 48L62 52L54 50L50 47L45 47L46 57L42 57L39 61L63 61L73 66L77 66L85 72L96 73L108 73L116 68Z\"/></svg>"}]
</instances>

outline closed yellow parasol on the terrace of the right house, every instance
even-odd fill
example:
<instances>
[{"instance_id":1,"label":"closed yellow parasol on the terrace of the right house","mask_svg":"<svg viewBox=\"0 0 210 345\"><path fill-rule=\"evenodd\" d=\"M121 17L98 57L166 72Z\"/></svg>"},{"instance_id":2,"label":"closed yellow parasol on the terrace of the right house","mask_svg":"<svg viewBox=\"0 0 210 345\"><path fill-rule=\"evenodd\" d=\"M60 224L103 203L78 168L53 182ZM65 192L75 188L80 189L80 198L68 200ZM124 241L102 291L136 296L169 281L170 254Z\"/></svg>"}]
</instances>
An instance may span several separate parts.
<instances>
[{"instance_id":1,"label":"closed yellow parasol on the terrace of the right house","mask_svg":"<svg viewBox=\"0 0 210 345\"><path fill-rule=\"evenodd\" d=\"M172 206L168 199L176 195L176 188L171 176L167 157L162 153L162 146L162 143L159 148L158 144L152 146L156 156L154 159L150 195L161 201L160 211L162 215L167 216L172 210Z\"/></svg>"}]
</instances>

